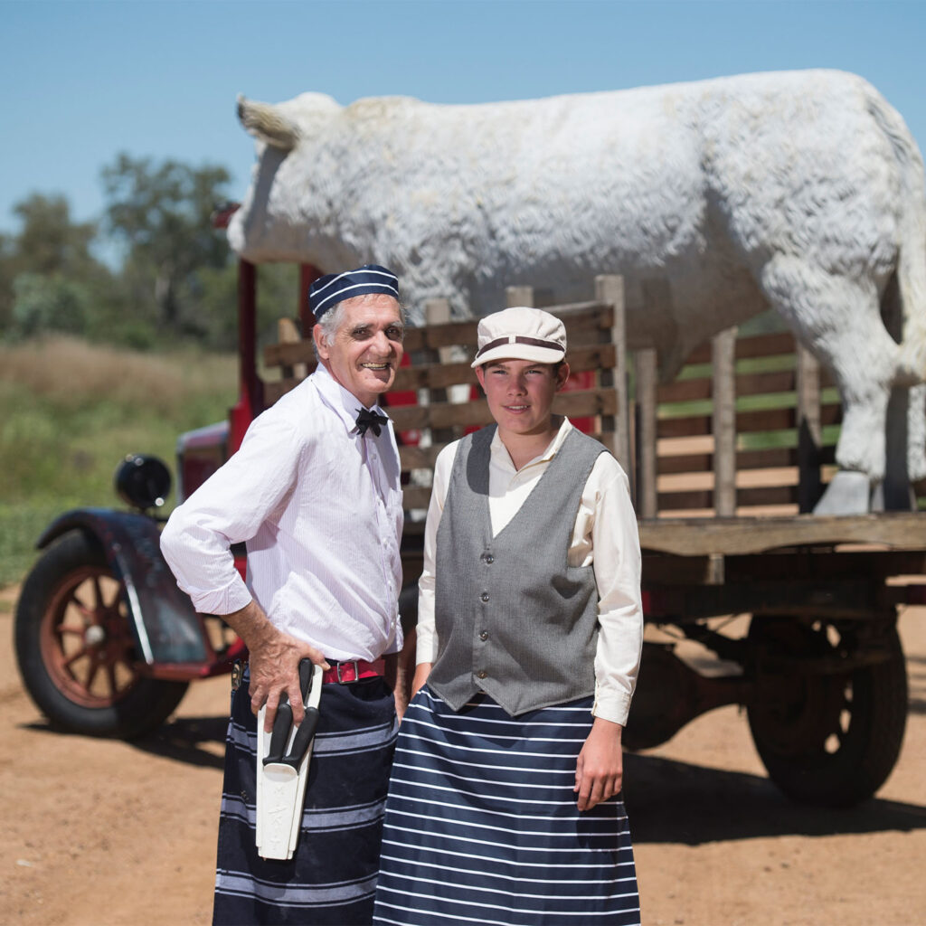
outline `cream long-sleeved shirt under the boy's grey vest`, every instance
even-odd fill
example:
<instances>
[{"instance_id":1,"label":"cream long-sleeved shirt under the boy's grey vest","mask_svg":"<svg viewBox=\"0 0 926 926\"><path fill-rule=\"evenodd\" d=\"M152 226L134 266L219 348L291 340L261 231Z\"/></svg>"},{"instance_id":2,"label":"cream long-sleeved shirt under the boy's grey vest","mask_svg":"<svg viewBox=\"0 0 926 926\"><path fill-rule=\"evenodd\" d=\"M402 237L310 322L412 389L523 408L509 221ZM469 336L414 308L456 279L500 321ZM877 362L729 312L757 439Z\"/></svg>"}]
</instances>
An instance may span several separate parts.
<instances>
[{"instance_id":1,"label":"cream long-sleeved shirt under the boy's grey vest","mask_svg":"<svg viewBox=\"0 0 926 926\"><path fill-rule=\"evenodd\" d=\"M489 462L489 514L493 536L517 514L556 456L572 425L563 419L544 453L515 469L505 444L495 432ZM434 625L434 568L437 528L459 441L447 444L434 464L431 507L424 533L424 571L419 582L419 663L437 658ZM640 539L630 483L618 461L601 454L582 490L567 554L569 566L594 565L598 586L598 644L594 657L595 696L592 713L626 724L643 646L640 601Z\"/></svg>"}]
</instances>

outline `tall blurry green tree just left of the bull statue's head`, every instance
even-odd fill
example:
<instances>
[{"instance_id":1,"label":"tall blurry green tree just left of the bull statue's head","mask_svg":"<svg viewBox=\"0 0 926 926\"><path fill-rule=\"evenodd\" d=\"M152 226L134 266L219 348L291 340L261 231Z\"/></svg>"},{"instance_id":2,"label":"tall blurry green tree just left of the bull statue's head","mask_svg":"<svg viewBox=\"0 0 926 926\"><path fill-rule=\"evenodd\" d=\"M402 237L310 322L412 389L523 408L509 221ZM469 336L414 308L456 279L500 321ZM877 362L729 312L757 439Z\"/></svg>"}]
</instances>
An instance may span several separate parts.
<instances>
[{"instance_id":1,"label":"tall blurry green tree just left of the bull statue's head","mask_svg":"<svg viewBox=\"0 0 926 926\"><path fill-rule=\"evenodd\" d=\"M210 217L230 176L216 165L160 164L122 153L103 169L106 229L124 247L123 282L136 310L169 332L207 339L202 316L206 269L230 264Z\"/></svg>"}]
</instances>

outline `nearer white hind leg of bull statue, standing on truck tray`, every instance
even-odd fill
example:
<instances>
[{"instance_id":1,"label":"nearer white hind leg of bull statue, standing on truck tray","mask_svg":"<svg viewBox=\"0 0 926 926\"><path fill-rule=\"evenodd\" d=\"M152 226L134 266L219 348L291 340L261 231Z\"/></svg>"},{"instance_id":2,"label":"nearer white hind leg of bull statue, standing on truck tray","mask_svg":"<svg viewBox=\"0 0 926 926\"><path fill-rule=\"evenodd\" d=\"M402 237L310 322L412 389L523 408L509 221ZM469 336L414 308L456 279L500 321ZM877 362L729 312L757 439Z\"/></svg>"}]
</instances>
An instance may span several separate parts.
<instances>
[{"instance_id":1,"label":"nearer white hind leg of bull statue, standing on truck tray","mask_svg":"<svg viewBox=\"0 0 926 926\"><path fill-rule=\"evenodd\" d=\"M878 291L870 280L836 276L802 258L779 255L759 285L810 350L836 378L843 425L836 445L839 471L814 511L861 514L870 487L884 478L885 427L898 347L885 331Z\"/></svg>"}]
</instances>

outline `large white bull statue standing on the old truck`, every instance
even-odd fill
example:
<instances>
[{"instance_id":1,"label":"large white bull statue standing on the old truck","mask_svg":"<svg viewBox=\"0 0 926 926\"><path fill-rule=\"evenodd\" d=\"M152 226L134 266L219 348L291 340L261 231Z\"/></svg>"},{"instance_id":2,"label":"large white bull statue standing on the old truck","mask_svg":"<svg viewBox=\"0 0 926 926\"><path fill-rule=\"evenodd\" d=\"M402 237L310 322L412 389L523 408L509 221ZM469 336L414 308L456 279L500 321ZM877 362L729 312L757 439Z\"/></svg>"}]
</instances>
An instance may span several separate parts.
<instances>
[{"instance_id":1,"label":"large white bull statue standing on the old truck","mask_svg":"<svg viewBox=\"0 0 926 926\"><path fill-rule=\"evenodd\" d=\"M240 256L385 264L413 320L434 296L485 313L513 284L566 299L595 274L622 274L630 292L661 278L627 323L664 378L774 307L842 395L840 471L818 512L868 509L885 444L907 446L893 469L926 476L923 163L861 78L750 74L476 106L303 94L240 99L239 116L258 140L229 228Z\"/></svg>"}]
</instances>

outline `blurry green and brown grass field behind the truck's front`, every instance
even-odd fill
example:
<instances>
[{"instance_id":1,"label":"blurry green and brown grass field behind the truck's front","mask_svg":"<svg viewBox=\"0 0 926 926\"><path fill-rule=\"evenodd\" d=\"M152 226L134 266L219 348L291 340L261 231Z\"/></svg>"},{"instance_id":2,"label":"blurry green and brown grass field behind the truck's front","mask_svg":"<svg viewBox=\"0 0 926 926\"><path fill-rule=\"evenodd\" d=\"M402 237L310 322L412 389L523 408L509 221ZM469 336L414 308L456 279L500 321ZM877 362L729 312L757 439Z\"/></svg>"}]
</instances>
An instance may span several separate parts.
<instances>
[{"instance_id":1,"label":"blurry green and brown grass field behind the truck's front","mask_svg":"<svg viewBox=\"0 0 926 926\"><path fill-rule=\"evenodd\" d=\"M177 436L223 419L235 357L140 354L45 338L0 344L0 586L18 581L50 519L117 503L128 452L173 462Z\"/></svg>"}]
</instances>

